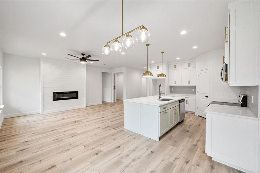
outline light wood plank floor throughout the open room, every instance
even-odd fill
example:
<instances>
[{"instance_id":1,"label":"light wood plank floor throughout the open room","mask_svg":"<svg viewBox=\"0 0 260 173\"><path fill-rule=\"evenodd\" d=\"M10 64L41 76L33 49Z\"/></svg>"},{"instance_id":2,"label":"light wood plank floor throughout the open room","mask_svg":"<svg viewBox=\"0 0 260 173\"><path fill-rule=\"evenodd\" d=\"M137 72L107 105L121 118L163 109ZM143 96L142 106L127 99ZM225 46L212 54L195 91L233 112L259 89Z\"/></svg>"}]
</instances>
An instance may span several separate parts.
<instances>
[{"instance_id":1,"label":"light wood plank floor throughout the open room","mask_svg":"<svg viewBox=\"0 0 260 173\"><path fill-rule=\"evenodd\" d=\"M151 140L124 129L124 106L103 102L50 114L4 119L0 172L239 172L205 153L205 119Z\"/></svg>"}]
</instances>

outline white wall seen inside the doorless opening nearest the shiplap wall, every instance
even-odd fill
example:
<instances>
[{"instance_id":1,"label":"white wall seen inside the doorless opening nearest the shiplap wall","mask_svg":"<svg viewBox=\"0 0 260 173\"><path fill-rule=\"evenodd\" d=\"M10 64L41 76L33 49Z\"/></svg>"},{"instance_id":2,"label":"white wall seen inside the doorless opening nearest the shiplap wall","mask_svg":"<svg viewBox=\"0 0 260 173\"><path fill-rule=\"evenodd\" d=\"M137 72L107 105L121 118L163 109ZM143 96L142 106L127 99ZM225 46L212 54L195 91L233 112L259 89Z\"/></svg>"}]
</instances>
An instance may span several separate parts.
<instances>
[{"instance_id":1,"label":"white wall seen inside the doorless opening nearest the shiplap wall","mask_svg":"<svg viewBox=\"0 0 260 173\"><path fill-rule=\"evenodd\" d=\"M111 102L111 73L102 72L102 101Z\"/></svg>"}]
</instances>

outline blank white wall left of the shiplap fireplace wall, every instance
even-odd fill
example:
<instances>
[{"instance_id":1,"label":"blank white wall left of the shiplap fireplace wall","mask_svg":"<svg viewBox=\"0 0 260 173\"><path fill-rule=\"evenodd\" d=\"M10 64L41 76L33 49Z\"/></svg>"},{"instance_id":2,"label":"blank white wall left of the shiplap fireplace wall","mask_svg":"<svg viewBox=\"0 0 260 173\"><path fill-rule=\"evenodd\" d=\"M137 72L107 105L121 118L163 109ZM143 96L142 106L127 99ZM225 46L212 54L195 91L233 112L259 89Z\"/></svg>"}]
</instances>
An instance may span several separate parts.
<instances>
[{"instance_id":1,"label":"blank white wall left of the shiplap fireplace wall","mask_svg":"<svg viewBox=\"0 0 260 173\"><path fill-rule=\"evenodd\" d=\"M3 54L4 117L40 111L40 59Z\"/></svg>"}]
</instances>

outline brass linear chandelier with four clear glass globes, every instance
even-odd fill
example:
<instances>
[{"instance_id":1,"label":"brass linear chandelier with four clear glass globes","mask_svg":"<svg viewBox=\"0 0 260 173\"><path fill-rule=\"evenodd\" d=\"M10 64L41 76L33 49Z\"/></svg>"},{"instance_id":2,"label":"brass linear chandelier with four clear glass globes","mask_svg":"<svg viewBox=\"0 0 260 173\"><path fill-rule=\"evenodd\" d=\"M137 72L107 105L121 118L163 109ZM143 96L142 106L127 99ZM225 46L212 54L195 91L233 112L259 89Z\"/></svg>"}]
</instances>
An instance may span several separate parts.
<instances>
[{"instance_id":1,"label":"brass linear chandelier with four clear glass globes","mask_svg":"<svg viewBox=\"0 0 260 173\"><path fill-rule=\"evenodd\" d=\"M106 43L106 45L102 48L102 54L105 56L109 56L112 52L113 53L119 53L122 50L122 46L120 42L118 41L119 38L124 37L122 41L122 45L126 49L132 49L134 47L134 39L130 35L131 32L138 30L136 34L136 41L140 44L145 44L150 39L150 33L147 28L145 28L143 25L132 29L131 31L128 31L126 33L123 33L123 0L122 0L122 33L119 37L114 38L113 40L110 40ZM109 43L113 42L111 47L109 46Z\"/></svg>"}]
</instances>

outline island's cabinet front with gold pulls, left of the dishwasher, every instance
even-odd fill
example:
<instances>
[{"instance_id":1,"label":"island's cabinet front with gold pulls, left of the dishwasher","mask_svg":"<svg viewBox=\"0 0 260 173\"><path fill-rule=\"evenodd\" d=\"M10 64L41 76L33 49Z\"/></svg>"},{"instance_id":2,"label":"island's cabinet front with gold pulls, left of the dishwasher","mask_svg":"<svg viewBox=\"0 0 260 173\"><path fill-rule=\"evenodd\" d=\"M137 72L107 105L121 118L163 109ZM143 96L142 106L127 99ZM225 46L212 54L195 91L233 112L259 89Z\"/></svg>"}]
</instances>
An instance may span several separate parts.
<instances>
[{"instance_id":1,"label":"island's cabinet front with gold pulls, left of the dishwasher","mask_svg":"<svg viewBox=\"0 0 260 173\"><path fill-rule=\"evenodd\" d=\"M170 104L171 105L171 104ZM160 136L166 133L169 129L179 123L179 101L174 102L174 105L177 105L173 108L169 105L161 106L159 113L160 119ZM163 110L163 108L168 108L168 110ZM170 108L170 109L169 109Z\"/></svg>"}]
</instances>

